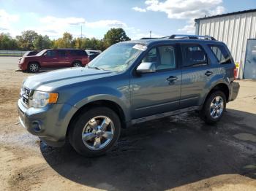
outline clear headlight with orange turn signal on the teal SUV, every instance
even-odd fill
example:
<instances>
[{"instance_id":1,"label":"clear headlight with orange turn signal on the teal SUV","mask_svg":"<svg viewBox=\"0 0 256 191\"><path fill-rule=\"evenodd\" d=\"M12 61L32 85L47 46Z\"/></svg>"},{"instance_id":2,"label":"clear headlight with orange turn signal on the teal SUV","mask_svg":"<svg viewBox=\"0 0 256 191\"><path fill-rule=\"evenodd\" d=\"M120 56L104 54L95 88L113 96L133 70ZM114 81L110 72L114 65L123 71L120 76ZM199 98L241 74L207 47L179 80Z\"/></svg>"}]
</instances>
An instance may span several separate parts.
<instances>
[{"instance_id":1,"label":"clear headlight with orange turn signal on the teal SUV","mask_svg":"<svg viewBox=\"0 0 256 191\"><path fill-rule=\"evenodd\" d=\"M34 91L32 99L29 100L29 106L34 108L41 108L47 104L56 104L58 97L58 93Z\"/></svg>"}]
</instances>

